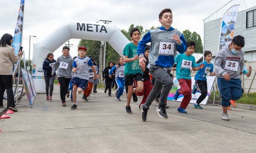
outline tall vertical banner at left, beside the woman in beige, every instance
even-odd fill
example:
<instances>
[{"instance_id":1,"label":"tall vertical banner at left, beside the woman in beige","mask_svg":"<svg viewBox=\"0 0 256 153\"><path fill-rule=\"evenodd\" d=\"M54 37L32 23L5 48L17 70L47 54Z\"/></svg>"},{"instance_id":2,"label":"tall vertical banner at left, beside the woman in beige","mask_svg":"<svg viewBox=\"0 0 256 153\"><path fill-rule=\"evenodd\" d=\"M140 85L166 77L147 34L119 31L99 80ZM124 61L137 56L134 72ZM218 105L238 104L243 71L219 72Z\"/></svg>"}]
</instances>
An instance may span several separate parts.
<instances>
[{"instance_id":1,"label":"tall vertical banner at left, beside the woman in beige","mask_svg":"<svg viewBox=\"0 0 256 153\"><path fill-rule=\"evenodd\" d=\"M23 17L24 17L24 2L25 0L20 0L20 9L18 14L18 20L13 36L12 46L14 47L15 54L19 53L20 46L22 45L22 29L23 29Z\"/></svg>"}]
</instances>

